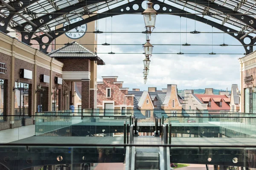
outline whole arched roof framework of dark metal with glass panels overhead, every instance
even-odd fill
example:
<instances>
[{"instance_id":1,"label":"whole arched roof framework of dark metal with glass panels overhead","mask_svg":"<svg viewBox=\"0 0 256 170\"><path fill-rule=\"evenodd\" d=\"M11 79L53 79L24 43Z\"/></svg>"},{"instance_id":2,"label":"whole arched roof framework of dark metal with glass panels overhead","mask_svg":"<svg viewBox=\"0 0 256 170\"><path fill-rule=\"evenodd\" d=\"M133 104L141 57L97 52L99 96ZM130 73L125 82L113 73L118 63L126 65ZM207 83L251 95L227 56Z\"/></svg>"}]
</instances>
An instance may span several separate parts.
<instances>
[{"instance_id":1,"label":"whole arched roof framework of dark metal with glass panels overhead","mask_svg":"<svg viewBox=\"0 0 256 170\"><path fill-rule=\"evenodd\" d=\"M84 23L119 14L144 11L143 0L0 0L0 31L15 29L22 35L22 42L36 40L40 50L47 51L49 43L67 31ZM159 14L173 14L206 23L230 34L242 45L245 54L253 51L256 42L256 0L151 0L159 5ZM133 8L134 5L138 9ZM126 10L129 7L130 10ZM121 10L123 9L123 10ZM166 9L166 10L164 10ZM55 29L70 20L86 15L77 23ZM234 33L236 32L236 33ZM250 43L245 44L244 38ZM42 40L47 39L47 42Z\"/></svg>"}]
</instances>

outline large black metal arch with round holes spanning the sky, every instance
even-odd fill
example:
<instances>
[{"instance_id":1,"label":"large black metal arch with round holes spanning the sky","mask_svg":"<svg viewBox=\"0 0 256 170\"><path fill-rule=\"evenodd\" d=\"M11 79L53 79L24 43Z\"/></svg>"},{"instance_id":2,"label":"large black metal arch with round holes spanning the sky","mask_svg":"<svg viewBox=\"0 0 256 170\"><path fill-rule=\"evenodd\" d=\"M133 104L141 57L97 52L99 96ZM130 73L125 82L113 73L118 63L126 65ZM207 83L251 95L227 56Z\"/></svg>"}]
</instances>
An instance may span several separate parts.
<instances>
[{"instance_id":1,"label":"large black metal arch with round holes spanning the sky","mask_svg":"<svg viewBox=\"0 0 256 170\"><path fill-rule=\"evenodd\" d=\"M115 15L120 15L122 13L123 14L141 13L141 12L144 11L144 9L140 5L142 2L143 2L143 0L135 0L135 1L127 3L125 5L118 6L117 8L113 8L111 10L108 10L108 11L106 11L104 13L96 14L96 15L94 15L92 17L88 17L88 18L86 18L84 20L81 20L79 22L70 24L69 26L64 26L62 28L58 28L58 29L56 29L54 31L48 32L48 34L51 37L48 36L47 34L43 34L43 35L37 36L35 38L32 38L32 40L36 40L40 44L40 50L42 52L44 52L44 53L47 53L47 48L49 47L50 42L52 42L53 40L55 40L56 38L58 38L59 36L61 36L65 32L70 31L73 28L81 26L81 25L83 25L85 23L90 23L92 21L99 20L99 19L102 19L102 18L105 18L105 17L111 17L111 16L115 16ZM244 38L245 37L243 37L240 40L240 38L246 34L244 32L238 32L235 29L232 29L232 28L226 27L224 25L215 23L215 22L213 22L211 20L208 20L208 19L206 19L204 17L200 17L198 15L191 14L189 12L183 11L183 10L181 10L179 8L176 8L174 6L170 6L170 5L166 4L166 3L162 3L162 2L157 1L157 0L151 0L151 2L154 3L154 4L158 4L160 6L160 9L157 10L157 12L159 14L172 14L173 13L172 11L175 11L175 13L179 13L179 14L173 14L173 15L180 16L180 17L187 17L187 18L192 19L192 20L197 20L197 21L200 21L202 23L206 23L206 24L208 24L208 25L210 25L212 27L218 28L221 31L227 32L227 34L230 34L232 37L234 37L237 40L239 40L239 42L242 45L244 45L245 54L249 54L249 53L251 53L253 51L253 46L252 45L256 42L256 39L253 39L252 36L247 35L246 37L249 37L251 41L250 41L250 44L245 44L244 43ZM137 10L134 10L134 8L133 8L133 6L135 4L137 4L139 6L139 8ZM163 10L163 7L166 8L165 11ZM129 10L126 10L126 8L129 8ZM228 33L228 32L231 32L231 33ZM234 34L234 32L237 32L237 34L236 33ZM22 36L25 37L27 35L29 36L30 34L26 34L25 33L25 35L23 34ZM44 38L44 37L47 37L47 38ZM43 42L42 41L43 38L44 38L44 40L48 40L49 39L49 41L48 42L46 42L46 41ZM26 43L29 43L29 42L26 42Z\"/></svg>"}]
</instances>

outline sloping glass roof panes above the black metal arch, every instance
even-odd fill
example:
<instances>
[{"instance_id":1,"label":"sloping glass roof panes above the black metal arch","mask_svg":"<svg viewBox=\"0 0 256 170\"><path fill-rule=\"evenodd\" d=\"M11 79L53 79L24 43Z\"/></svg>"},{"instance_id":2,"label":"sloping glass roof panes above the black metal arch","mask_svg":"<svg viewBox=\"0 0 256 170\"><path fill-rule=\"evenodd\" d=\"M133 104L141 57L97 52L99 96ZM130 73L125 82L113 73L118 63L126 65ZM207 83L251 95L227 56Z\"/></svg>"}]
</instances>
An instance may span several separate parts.
<instances>
[{"instance_id":1,"label":"sloping glass roof panes above the black metal arch","mask_svg":"<svg viewBox=\"0 0 256 170\"><path fill-rule=\"evenodd\" d=\"M3 0L5 3L12 3L10 0ZM254 0L200 0L200 3L197 3L197 0L159 0L160 2L166 3L168 5L174 6L176 8L180 8L189 13L196 13L200 17L205 17L208 20L212 20L216 23L220 23L227 27L233 28L237 31L249 32L252 31L251 34L256 34L256 31L243 23L242 19L238 20L233 16L230 16L225 13L229 13L230 10L236 11L240 14L246 14L249 17L256 18L256 1ZM204 2L205 1L205 2ZM34 1L31 1L34 2ZM72 8L73 5L78 4L80 2L88 2L89 5L81 8ZM95 1L97 2L97 1ZM99 2L99 0L98 0ZM69 22L77 17L81 17L84 14L82 12L87 11L90 13L99 12L103 13L108 11L111 8L116 8L117 6L128 3L129 0L108 0L93 3L93 0L38 0L35 3L23 8L23 10L19 11L16 14L10 24L9 27L14 28L15 26L26 24L25 31L31 31L33 20L43 17L49 13L52 15L58 15L55 19L49 21L48 23L41 26L41 29L38 29L38 32L42 31L50 31L55 26L63 24L65 22ZM131 1L130 1L131 2ZM93 3L93 4L92 4ZM209 3L214 3L216 6L210 8L211 5ZM220 7L218 7L220 6ZM0 11L0 16L7 13L5 9L8 9L8 6L4 4L0 5L2 10ZM224 10L220 9L223 8ZM57 12L61 9L70 8L66 14L57 14ZM3 10L4 9L4 10ZM211 14L211 15L209 15ZM30 23L28 23L31 21ZM35 23L34 23L35 24Z\"/></svg>"}]
</instances>

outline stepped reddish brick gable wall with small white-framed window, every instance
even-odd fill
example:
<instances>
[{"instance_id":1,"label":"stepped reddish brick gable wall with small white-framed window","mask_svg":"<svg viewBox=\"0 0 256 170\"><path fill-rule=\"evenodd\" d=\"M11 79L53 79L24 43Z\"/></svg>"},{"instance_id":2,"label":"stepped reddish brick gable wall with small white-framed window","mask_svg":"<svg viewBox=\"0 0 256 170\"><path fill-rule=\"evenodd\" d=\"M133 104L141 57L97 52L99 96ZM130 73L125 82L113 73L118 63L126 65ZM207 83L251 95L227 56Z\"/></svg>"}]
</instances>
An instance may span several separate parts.
<instances>
[{"instance_id":1,"label":"stepped reddish brick gable wall with small white-framed window","mask_svg":"<svg viewBox=\"0 0 256 170\"><path fill-rule=\"evenodd\" d=\"M122 87L120 84L114 84L116 79L104 79L104 84L98 84L97 88L97 105L102 105L103 101L111 100L115 101L114 105L132 105L133 106L133 97L126 97L125 94L128 94L127 90L119 90L119 87ZM106 97L106 88L111 88L111 97Z\"/></svg>"}]
</instances>

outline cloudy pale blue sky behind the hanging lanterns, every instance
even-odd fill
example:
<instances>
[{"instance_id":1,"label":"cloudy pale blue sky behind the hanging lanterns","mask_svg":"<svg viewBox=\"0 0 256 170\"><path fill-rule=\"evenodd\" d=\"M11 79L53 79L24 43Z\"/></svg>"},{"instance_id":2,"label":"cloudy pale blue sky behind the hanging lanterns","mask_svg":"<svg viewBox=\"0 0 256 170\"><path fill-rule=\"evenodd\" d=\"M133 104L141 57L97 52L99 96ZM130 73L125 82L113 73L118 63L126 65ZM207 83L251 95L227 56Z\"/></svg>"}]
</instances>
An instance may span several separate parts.
<instances>
[{"instance_id":1,"label":"cloudy pale blue sky behind the hanging lanterns","mask_svg":"<svg viewBox=\"0 0 256 170\"><path fill-rule=\"evenodd\" d=\"M99 30L111 31L111 17L99 20ZM112 31L145 31L143 16L139 14L124 14L113 17ZM212 32L212 27L204 23L181 18L181 31ZM180 17L173 15L157 15L156 28L153 32L180 31ZM213 32L221 32L213 28ZM223 37L224 35L224 37ZM212 34L151 34L151 44L204 44L209 46L181 46L183 53L212 52ZM98 34L98 44L105 43L105 34ZM112 44L143 44L145 34L113 33ZM241 45L238 40L228 34L213 34L213 44ZM111 44L111 34L107 34L107 43ZM143 53L142 45L113 45L115 53ZM98 53L111 52L111 46L98 46ZM154 45L153 53L177 53L180 45ZM242 46L213 46L215 53L244 53ZM143 83L143 54L98 54L106 65L98 66L98 81L101 76L119 76L118 81L124 81L123 87L166 88L167 84L177 84L178 89L215 88L230 90L232 84L239 84L239 57L244 55L208 55L208 54L154 54L151 57L148 82Z\"/></svg>"}]
</instances>

